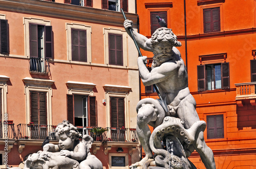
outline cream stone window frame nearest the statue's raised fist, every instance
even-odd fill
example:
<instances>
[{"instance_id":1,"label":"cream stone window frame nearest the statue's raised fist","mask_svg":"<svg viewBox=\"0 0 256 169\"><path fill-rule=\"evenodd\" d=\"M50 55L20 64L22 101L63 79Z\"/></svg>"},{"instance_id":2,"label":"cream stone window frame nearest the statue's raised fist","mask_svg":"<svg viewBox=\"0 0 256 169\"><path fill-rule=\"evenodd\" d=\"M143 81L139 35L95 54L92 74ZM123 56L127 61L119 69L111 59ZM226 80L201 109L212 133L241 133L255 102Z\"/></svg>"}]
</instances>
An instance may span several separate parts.
<instances>
[{"instance_id":1,"label":"cream stone window frame nearest the statue's raised fist","mask_svg":"<svg viewBox=\"0 0 256 169\"><path fill-rule=\"evenodd\" d=\"M109 34L119 34L122 35L123 39L123 66L118 65L110 65L109 64ZM105 65L108 67L114 68L127 68L128 67L128 59L127 59L127 33L125 30L114 29L114 28L103 28L104 35L104 58Z\"/></svg>"}]
</instances>

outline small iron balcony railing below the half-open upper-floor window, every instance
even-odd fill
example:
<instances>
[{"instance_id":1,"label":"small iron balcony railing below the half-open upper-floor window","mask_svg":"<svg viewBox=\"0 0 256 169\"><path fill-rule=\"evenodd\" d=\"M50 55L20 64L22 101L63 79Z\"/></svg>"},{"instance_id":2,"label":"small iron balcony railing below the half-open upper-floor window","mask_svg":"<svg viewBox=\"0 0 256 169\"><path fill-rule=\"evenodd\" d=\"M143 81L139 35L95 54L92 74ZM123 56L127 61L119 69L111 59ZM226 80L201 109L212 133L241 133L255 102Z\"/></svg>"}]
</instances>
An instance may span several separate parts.
<instances>
[{"instance_id":1,"label":"small iron balcony railing below the half-open upper-floor window","mask_svg":"<svg viewBox=\"0 0 256 169\"><path fill-rule=\"evenodd\" d=\"M29 71L31 73L49 73L48 59L30 58Z\"/></svg>"}]
</instances>

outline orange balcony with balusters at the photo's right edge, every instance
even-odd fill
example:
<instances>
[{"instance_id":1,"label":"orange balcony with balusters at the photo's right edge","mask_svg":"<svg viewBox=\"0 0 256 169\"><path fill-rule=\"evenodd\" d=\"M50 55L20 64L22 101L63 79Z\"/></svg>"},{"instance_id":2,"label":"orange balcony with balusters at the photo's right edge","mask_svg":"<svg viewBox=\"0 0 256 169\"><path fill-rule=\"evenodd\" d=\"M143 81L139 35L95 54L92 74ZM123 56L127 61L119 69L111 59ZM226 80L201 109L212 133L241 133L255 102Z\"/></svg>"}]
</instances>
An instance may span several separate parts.
<instances>
[{"instance_id":1,"label":"orange balcony with balusters at the photo's right edge","mask_svg":"<svg viewBox=\"0 0 256 169\"><path fill-rule=\"evenodd\" d=\"M256 82L237 83L234 84L237 88L236 101L238 106L243 106L244 102L249 102L252 106L255 106L255 85Z\"/></svg>"}]
</instances>

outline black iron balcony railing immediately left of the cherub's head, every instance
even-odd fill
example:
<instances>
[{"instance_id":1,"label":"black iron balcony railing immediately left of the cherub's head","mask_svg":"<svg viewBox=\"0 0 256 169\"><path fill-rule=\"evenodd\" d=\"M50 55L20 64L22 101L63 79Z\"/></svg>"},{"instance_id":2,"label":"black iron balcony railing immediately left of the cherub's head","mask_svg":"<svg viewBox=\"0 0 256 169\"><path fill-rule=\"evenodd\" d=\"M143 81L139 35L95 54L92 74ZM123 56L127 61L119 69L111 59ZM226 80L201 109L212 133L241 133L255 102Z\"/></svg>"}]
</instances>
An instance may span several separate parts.
<instances>
[{"instance_id":1,"label":"black iron balcony railing immediately left of the cherub's head","mask_svg":"<svg viewBox=\"0 0 256 169\"><path fill-rule=\"evenodd\" d=\"M55 125L18 124L17 139L45 139L49 136L50 140L56 140L55 128Z\"/></svg>"}]
</instances>

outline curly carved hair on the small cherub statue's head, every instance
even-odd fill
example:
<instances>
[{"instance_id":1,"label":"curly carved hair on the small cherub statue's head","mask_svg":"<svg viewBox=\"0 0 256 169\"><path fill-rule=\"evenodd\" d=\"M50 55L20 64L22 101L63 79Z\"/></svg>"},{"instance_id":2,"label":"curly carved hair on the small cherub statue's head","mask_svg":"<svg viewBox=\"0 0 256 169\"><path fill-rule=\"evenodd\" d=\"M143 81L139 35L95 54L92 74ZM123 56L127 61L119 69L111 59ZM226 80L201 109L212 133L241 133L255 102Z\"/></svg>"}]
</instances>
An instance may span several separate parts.
<instances>
[{"instance_id":1,"label":"curly carved hair on the small cherub statue's head","mask_svg":"<svg viewBox=\"0 0 256 169\"><path fill-rule=\"evenodd\" d=\"M63 120L62 123L59 123L58 126L55 129L55 133L63 133L65 132L68 136L75 138L75 140L78 140L79 137L82 136L77 130L77 128L70 124L69 121Z\"/></svg>"}]
</instances>

